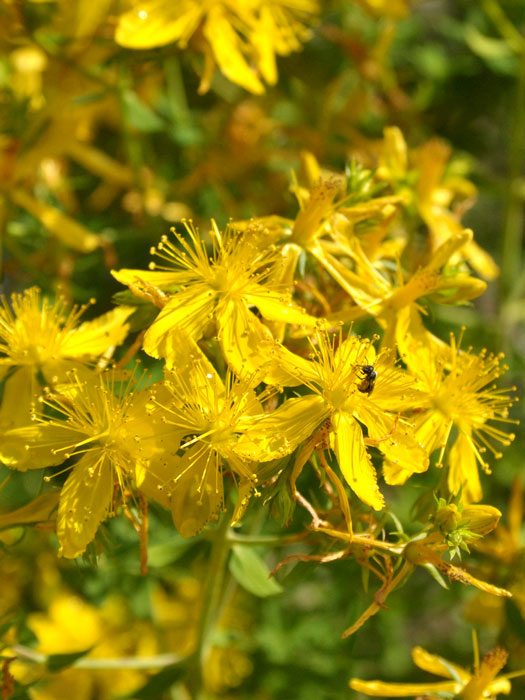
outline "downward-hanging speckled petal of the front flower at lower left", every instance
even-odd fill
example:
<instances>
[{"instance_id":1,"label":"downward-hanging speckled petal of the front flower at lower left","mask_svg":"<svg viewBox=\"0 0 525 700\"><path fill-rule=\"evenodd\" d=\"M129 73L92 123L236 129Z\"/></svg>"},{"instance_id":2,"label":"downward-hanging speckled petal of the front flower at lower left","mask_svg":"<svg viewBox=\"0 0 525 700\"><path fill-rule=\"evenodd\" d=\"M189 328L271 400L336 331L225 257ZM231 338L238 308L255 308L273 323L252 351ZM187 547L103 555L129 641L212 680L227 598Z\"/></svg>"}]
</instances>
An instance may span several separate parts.
<instances>
[{"instance_id":1,"label":"downward-hanging speckled petal of the front flower at lower left","mask_svg":"<svg viewBox=\"0 0 525 700\"><path fill-rule=\"evenodd\" d=\"M57 516L59 554L80 556L95 537L113 497L113 469L99 455L85 455L73 468L62 493Z\"/></svg>"}]
</instances>

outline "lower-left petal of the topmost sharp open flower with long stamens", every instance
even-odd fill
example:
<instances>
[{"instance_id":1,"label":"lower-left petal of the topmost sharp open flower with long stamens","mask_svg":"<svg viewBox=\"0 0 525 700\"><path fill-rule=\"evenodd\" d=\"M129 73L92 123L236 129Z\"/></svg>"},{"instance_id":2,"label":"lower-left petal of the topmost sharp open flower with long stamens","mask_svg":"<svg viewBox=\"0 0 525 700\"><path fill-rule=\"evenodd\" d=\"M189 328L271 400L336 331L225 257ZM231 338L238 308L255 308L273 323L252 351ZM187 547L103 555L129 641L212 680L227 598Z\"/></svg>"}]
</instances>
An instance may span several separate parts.
<instances>
[{"instance_id":1,"label":"lower-left petal of the topmost sharp open flower with long stamens","mask_svg":"<svg viewBox=\"0 0 525 700\"><path fill-rule=\"evenodd\" d=\"M196 287L174 294L148 328L144 336L144 350L148 355L169 359L174 351L170 340L173 330L184 330L195 340L202 337L213 319L215 296L205 285Z\"/></svg>"}]
</instances>

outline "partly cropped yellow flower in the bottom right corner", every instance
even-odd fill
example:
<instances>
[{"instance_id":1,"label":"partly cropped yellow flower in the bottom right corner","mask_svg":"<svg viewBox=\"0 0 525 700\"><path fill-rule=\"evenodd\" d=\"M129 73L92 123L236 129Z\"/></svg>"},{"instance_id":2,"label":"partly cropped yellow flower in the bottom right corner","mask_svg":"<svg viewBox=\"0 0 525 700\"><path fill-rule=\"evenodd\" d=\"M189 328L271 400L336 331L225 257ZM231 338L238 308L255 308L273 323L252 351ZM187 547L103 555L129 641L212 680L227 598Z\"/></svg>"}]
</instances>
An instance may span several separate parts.
<instances>
[{"instance_id":1,"label":"partly cropped yellow flower in the bottom right corner","mask_svg":"<svg viewBox=\"0 0 525 700\"><path fill-rule=\"evenodd\" d=\"M451 693L461 700L494 698L500 693L508 695L511 690L509 678L497 675L507 663L507 657L504 649L493 649L471 673L447 659L430 654L421 647L414 647L412 659L416 666L450 680L433 683L384 683L352 678L350 687L359 693L381 698L406 698L427 694L434 697L438 693Z\"/></svg>"}]
</instances>

